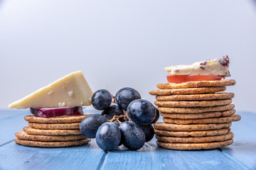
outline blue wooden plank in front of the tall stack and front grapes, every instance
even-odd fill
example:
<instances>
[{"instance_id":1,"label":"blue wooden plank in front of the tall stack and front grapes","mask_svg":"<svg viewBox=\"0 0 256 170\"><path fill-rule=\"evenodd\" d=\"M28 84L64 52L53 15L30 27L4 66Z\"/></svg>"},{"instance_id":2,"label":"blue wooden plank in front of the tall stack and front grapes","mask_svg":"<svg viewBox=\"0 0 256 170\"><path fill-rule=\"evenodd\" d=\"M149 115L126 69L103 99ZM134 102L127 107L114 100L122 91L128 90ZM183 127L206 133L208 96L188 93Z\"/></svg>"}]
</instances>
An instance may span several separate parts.
<instances>
[{"instance_id":1,"label":"blue wooden plank in front of the tall stack and front grapes","mask_svg":"<svg viewBox=\"0 0 256 170\"><path fill-rule=\"evenodd\" d=\"M108 153L101 169L129 169L131 166L132 169L247 169L218 149L176 151L157 147L154 142L137 152L122 147Z\"/></svg>"}]
</instances>

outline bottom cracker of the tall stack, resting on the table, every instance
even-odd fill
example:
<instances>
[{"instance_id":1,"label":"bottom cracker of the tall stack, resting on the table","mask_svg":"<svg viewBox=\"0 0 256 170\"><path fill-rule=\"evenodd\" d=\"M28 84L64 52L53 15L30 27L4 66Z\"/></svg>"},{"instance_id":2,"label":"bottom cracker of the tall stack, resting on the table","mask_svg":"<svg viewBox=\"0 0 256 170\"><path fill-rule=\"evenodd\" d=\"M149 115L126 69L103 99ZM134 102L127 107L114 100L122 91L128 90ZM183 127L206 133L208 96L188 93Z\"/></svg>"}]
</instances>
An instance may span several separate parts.
<instances>
[{"instance_id":1,"label":"bottom cracker of the tall stack, resting on the table","mask_svg":"<svg viewBox=\"0 0 256 170\"><path fill-rule=\"evenodd\" d=\"M198 149L214 149L218 147L226 147L233 144L233 139L222 142L209 142L209 143L166 143L156 141L156 145L165 149L174 150L198 150Z\"/></svg>"}]
</instances>

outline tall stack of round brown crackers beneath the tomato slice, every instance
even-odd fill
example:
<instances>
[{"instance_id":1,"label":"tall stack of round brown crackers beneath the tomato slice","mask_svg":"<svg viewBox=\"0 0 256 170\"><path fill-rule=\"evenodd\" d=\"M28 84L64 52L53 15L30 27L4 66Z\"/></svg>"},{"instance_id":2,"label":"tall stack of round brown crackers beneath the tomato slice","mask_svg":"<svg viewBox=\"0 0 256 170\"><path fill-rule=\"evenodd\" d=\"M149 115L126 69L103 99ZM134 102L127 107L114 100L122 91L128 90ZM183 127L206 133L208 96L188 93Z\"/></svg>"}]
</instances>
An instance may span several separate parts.
<instances>
[{"instance_id":1,"label":"tall stack of round brown crackers beneath the tomato slice","mask_svg":"<svg viewBox=\"0 0 256 170\"><path fill-rule=\"evenodd\" d=\"M154 123L156 144L166 149L192 150L225 147L233 143L232 122L240 120L225 86L235 80L157 84L155 105L164 122Z\"/></svg>"}]
</instances>

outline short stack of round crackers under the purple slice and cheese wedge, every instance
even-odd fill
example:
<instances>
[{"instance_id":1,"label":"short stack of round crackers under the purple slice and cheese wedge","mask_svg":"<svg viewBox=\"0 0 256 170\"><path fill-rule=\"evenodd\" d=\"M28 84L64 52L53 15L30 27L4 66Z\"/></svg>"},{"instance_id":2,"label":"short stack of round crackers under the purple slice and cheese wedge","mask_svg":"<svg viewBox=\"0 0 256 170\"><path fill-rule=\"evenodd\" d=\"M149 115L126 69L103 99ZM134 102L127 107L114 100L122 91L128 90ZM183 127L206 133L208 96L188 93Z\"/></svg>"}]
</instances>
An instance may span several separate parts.
<instances>
[{"instance_id":1,"label":"short stack of round crackers under the purple slice and cheese wedge","mask_svg":"<svg viewBox=\"0 0 256 170\"><path fill-rule=\"evenodd\" d=\"M84 145L90 139L81 135L80 122L89 114L39 118L26 115L28 126L16 132L15 142L29 147L71 147Z\"/></svg>"}]
</instances>

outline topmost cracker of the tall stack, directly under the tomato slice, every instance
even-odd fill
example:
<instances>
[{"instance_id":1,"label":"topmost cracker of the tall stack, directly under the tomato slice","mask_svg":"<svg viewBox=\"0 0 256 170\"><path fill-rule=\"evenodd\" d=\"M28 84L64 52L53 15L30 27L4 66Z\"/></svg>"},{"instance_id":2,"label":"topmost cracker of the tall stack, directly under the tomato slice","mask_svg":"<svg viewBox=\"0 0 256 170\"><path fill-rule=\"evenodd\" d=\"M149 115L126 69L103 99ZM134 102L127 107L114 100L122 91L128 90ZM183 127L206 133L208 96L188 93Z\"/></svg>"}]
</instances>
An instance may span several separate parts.
<instances>
[{"instance_id":1,"label":"topmost cracker of the tall stack, directly under the tomato slice","mask_svg":"<svg viewBox=\"0 0 256 170\"><path fill-rule=\"evenodd\" d=\"M188 81L184 83L166 83L157 84L159 89L184 89L191 87L218 87L218 86L233 86L235 85L235 80L225 79L225 80L214 80L214 81Z\"/></svg>"}]
</instances>

